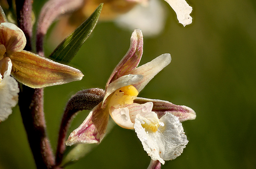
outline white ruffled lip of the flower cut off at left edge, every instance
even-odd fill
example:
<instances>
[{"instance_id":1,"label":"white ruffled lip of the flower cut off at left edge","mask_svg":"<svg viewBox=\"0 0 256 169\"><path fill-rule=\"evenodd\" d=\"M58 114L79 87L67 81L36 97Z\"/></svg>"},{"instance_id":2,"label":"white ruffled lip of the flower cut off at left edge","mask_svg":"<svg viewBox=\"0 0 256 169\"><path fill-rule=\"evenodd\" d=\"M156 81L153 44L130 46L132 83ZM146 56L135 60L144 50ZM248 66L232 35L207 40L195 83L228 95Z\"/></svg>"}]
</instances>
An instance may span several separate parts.
<instances>
[{"instance_id":1,"label":"white ruffled lip of the flower cut off at left edge","mask_svg":"<svg viewBox=\"0 0 256 169\"><path fill-rule=\"evenodd\" d=\"M12 108L18 102L18 83L10 77L12 63L8 62L8 69L5 71L3 79L0 78L0 122L6 120L12 113ZM2 77L2 75L0 75Z\"/></svg>"}]
</instances>

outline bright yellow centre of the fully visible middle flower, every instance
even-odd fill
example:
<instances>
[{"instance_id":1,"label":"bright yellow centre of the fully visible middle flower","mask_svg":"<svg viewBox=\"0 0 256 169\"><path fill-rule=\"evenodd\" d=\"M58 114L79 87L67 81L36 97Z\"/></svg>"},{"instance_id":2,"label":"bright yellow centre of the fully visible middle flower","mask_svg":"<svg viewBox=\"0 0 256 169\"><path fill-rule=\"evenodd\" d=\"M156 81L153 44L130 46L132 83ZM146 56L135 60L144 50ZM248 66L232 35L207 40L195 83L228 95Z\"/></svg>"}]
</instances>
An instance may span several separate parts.
<instances>
[{"instance_id":1,"label":"bright yellow centre of the fully visible middle flower","mask_svg":"<svg viewBox=\"0 0 256 169\"><path fill-rule=\"evenodd\" d=\"M110 108L113 106L115 108L119 108L120 105L132 104L137 95L138 90L134 86L129 85L121 87L111 96L108 102L108 107Z\"/></svg>"}]
</instances>

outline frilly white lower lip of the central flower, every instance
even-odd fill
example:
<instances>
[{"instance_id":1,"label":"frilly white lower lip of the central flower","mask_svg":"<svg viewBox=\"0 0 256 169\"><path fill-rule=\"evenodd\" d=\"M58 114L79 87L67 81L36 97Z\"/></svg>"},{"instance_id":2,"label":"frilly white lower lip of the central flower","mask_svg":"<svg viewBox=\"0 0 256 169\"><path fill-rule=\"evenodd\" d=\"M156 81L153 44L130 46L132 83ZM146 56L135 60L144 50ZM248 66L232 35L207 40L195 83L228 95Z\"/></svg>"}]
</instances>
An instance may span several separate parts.
<instances>
[{"instance_id":1,"label":"frilly white lower lip of the central flower","mask_svg":"<svg viewBox=\"0 0 256 169\"><path fill-rule=\"evenodd\" d=\"M137 118L134 129L144 150L153 160L159 160L162 164L164 160L178 157L188 143L182 124L170 113L160 118L160 126L156 132L145 130L141 120Z\"/></svg>"}]
</instances>

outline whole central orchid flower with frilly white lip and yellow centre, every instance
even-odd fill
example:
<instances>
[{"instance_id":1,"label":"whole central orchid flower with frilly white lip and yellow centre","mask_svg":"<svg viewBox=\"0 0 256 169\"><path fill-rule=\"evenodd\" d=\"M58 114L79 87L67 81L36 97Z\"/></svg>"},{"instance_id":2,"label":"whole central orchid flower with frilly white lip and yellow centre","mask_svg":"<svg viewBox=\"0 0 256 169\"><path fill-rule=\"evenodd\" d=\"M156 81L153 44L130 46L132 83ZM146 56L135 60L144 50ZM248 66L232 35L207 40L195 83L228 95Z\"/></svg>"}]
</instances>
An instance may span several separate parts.
<instances>
[{"instance_id":1,"label":"whole central orchid flower with frilly white lip and yellow centre","mask_svg":"<svg viewBox=\"0 0 256 169\"><path fill-rule=\"evenodd\" d=\"M153 160L175 159L188 143L180 121L196 118L194 110L167 101L137 98L146 84L170 61L163 54L137 67L143 47L140 29L132 33L130 49L106 84L104 100L74 130L66 145L99 143L106 132L109 114L122 128L135 129L144 150Z\"/></svg>"}]
</instances>

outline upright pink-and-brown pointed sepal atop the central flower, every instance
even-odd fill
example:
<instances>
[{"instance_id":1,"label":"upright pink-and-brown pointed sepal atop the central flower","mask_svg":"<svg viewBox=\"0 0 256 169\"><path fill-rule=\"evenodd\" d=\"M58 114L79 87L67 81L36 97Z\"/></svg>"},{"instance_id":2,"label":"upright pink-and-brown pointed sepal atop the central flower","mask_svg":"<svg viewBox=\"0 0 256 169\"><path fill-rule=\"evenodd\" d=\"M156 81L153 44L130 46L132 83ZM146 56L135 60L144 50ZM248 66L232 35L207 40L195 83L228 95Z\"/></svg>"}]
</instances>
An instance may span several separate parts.
<instances>
[{"instance_id":1,"label":"upright pink-and-brown pointed sepal atop the central flower","mask_svg":"<svg viewBox=\"0 0 256 169\"><path fill-rule=\"evenodd\" d=\"M143 53L143 35L140 29L135 29L131 36L130 48L127 51L123 59L115 67L114 71L110 75L106 88L108 85L123 75L130 74L129 72L136 68L140 63L140 59Z\"/></svg>"}]
</instances>

